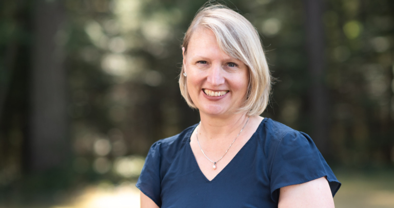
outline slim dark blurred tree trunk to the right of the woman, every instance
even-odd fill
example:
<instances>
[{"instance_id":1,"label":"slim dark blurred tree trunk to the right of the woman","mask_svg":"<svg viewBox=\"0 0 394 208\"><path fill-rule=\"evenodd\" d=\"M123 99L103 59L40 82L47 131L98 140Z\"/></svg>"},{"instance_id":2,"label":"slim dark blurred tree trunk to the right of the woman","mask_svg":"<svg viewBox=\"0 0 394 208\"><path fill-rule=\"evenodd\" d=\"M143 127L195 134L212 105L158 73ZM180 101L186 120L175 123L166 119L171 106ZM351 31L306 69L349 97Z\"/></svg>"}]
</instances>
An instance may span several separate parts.
<instances>
[{"instance_id":1,"label":"slim dark blurred tree trunk to the right of the woman","mask_svg":"<svg viewBox=\"0 0 394 208\"><path fill-rule=\"evenodd\" d=\"M308 70L310 73L310 115L312 138L323 155L329 155L328 92L324 83L323 0L304 0Z\"/></svg>"}]
</instances>

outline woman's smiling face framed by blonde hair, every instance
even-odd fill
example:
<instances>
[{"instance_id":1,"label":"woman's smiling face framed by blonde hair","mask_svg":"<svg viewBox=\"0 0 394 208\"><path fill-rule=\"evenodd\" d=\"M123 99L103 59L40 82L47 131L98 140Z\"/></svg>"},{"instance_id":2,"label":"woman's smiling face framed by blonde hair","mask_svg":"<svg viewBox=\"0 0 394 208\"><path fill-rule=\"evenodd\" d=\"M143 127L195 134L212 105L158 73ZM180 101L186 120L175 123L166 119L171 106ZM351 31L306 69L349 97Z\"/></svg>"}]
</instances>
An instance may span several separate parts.
<instances>
[{"instance_id":1,"label":"woman's smiling face framed by blonde hair","mask_svg":"<svg viewBox=\"0 0 394 208\"><path fill-rule=\"evenodd\" d=\"M190 98L200 113L217 116L238 110L248 88L248 67L222 52L211 30L192 34L183 64Z\"/></svg>"}]
</instances>

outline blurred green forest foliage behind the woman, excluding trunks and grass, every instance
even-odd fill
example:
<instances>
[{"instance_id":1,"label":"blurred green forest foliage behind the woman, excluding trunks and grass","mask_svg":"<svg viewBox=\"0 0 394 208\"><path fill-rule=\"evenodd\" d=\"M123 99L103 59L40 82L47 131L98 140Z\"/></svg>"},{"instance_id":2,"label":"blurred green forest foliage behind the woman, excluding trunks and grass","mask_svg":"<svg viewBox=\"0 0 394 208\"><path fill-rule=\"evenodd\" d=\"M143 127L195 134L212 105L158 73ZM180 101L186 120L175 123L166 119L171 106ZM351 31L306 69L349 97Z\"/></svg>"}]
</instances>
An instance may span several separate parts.
<instances>
[{"instance_id":1,"label":"blurred green forest foliage behind the woman, excluding trunks and grass","mask_svg":"<svg viewBox=\"0 0 394 208\"><path fill-rule=\"evenodd\" d=\"M21 179L27 166L34 25L32 6L22 2L0 3L0 186ZM66 23L48 41L66 53L69 140L77 164L70 171L86 180L118 180L121 176L113 173L117 158L145 155L153 142L199 121L198 111L180 95L178 76L183 35L205 1L62 3ZM310 132L303 1L225 3L259 31L279 80L262 115ZM340 164L394 160L393 9L390 0L326 1L325 75L319 81L329 91L331 159ZM75 169L80 166L85 168Z\"/></svg>"}]
</instances>

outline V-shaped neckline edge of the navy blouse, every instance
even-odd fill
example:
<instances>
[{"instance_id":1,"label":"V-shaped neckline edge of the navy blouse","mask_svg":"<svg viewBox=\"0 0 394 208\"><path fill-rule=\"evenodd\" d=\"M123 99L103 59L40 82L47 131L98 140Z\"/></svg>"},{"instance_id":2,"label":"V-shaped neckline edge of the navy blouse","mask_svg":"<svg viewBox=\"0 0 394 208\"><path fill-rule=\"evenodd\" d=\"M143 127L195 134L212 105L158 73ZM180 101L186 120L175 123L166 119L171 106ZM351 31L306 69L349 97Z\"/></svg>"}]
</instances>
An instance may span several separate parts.
<instances>
[{"instance_id":1,"label":"V-shaped neckline edge of the navy blouse","mask_svg":"<svg viewBox=\"0 0 394 208\"><path fill-rule=\"evenodd\" d=\"M212 180L209 180L209 179L207 178L207 176L205 176L205 174L204 174L203 171L201 170L199 164L197 163L197 159L195 158L195 155L194 155L194 153L193 153L193 150L191 149L191 145L190 145L191 136L193 135L193 132L194 132L195 128L198 126L198 124L196 124L195 127L192 129L190 135L188 136L188 145L187 145L187 146L188 146L189 154L191 154L191 156L192 156L192 160L193 160L192 163L193 163L194 166L198 169L199 174L202 175L202 177L203 177L207 182L212 182L213 180L215 180L216 178L218 178L226 169L228 169L227 167L228 167L229 165L231 165L232 163L235 163L235 162L233 162L234 159L237 159L237 157L239 157L238 155L240 154L241 151L243 151L243 150L245 149L245 146L247 146L247 145L250 143L251 140L253 140L255 137L257 137L257 132L258 132L259 129L264 125L264 123L265 123L266 121L267 121L267 118L265 117L265 118L261 121L261 123L259 124L259 126L257 127L256 131L255 131L255 132L252 134L252 136L249 138L249 140L241 147L241 149L237 152L237 154L234 155L234 157L229 161L229 163L228 163L218 174L216 174L215 177L212 178Z\"/></svg>"}]
</instances>

